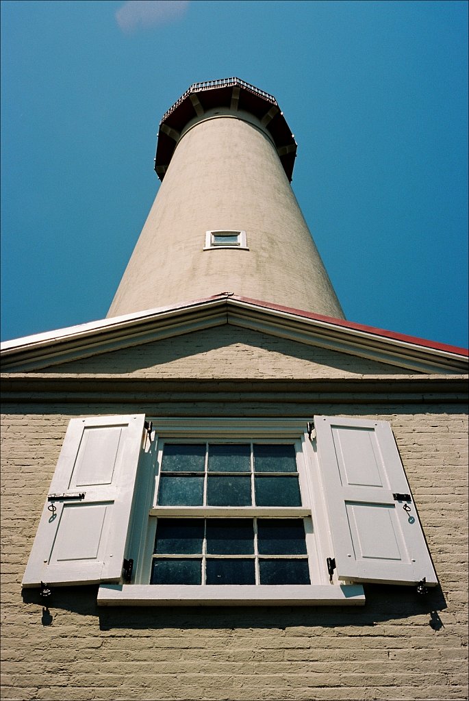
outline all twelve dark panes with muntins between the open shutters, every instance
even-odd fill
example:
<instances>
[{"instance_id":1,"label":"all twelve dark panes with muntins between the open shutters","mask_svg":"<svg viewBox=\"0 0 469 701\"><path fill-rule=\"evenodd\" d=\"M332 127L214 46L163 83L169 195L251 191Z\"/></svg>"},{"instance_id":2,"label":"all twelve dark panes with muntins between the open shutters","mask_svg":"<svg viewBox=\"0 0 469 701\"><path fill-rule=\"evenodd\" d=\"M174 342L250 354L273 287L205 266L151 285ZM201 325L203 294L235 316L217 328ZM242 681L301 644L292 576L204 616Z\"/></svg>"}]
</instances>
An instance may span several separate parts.
<instances>
[{"instance_id":1,"label":"all twelve dark panes with muntins between the open shutters","mask_svg":"<svg viewBox=\"0 0 469 701\"><path fill-rule=\"evenodd\" d=\"M311 583L293 443L165 442L158 463L151 584Z\"/></svg>"}]
</instances>

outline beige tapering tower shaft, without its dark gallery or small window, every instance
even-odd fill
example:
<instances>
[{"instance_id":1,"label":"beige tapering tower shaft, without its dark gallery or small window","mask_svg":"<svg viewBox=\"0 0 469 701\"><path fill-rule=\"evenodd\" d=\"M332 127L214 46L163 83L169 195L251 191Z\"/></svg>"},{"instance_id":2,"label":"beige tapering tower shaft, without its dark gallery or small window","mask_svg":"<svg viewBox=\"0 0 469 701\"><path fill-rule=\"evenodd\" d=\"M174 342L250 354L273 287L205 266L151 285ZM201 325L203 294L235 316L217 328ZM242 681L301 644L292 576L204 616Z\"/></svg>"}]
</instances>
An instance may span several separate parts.
<instances>
[{"instance_id":1,"label":"beige tapering tower shaft, without its dark gallery or small window","mask_svg":"<svg viewBox=\"0 0 469 701\"><path fill-rule=\"evenodd\" d=\"M249 250L203 250L213 229ZM180 139L108 317L220 292L344 318L271 139L235 115Z\"/></svg>"}]
</instances>

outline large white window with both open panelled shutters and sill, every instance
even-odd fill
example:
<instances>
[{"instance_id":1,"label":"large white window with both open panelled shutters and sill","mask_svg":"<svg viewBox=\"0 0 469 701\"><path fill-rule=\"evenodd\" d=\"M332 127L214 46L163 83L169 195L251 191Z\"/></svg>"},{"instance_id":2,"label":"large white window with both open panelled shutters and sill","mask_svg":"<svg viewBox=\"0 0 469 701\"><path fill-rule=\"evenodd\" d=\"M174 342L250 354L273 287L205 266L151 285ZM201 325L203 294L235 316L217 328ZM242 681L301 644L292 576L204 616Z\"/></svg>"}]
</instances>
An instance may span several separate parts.
<instances>
[{"instance_id":1,"label":"large white window with both open panelled shutters and sill","mask_svg":"<svg viewBox=\"0 0 469 701\"><path fill-rule=\"evenodd\" d=\"M72 419L23 585L100 583L103 605L356 605L362 582L435 585L389 424L314 423Z\"/></svg>"}]
</instances>

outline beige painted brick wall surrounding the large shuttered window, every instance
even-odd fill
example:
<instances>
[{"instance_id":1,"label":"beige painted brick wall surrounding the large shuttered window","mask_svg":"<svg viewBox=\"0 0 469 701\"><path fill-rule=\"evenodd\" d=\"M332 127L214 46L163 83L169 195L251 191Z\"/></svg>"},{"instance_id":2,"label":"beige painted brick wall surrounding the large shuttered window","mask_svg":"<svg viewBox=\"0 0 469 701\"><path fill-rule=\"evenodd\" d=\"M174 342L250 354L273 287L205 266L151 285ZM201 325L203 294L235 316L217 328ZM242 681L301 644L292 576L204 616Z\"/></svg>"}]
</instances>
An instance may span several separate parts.
<instances>
[{"instance_id":1,"label":"beige painted brick wall surrounding the large shuttered window","mask_svg":"<svg viewBox=\"0 0 469 701\"><path fill-rule=\"evenodd\" d=\"M458 407L320 411L391 422L441 590L419 597L407 587L369 585L362 608L133 609L98 608L97 587L64 587L54 591L50 615L20 583L67 423L122 407L5 410L2 698L467 698L467 422ZM147 410L158 414L157 406Z\"/></svg>"}]
</instances>

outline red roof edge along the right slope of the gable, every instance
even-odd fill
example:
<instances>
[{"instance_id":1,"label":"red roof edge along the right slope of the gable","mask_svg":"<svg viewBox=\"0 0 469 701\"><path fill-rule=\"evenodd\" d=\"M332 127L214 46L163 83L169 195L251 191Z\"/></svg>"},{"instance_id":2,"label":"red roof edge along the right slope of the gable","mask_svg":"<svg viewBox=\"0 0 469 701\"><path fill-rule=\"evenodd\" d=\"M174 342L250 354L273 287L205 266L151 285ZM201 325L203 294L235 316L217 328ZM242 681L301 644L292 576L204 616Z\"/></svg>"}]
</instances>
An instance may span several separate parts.
<instances>
[{"instance_id":1,"label":"red roof edge along the right slope of the gable","mask_svg":"<svg viewBox=\"0 0 469 701\"><path fill-rule=\"evenodd\" d=\"M217 299L223 295L214 295L209 299ZM457 355L469 356L468 348L460 348L459 346L449 346L447 343L438 343L437 341L428 341L428 339L420 339L418 336L407 336L407 334L398 334L394 331L387 331L386 329L379 329L374 326L367 326L365 324L355 324L352 321L346 321L344 319L336 319L332 316L325 316L322 314L316 314L309 311L303 311L301 309L294 309L292 307L282 306L281 304L273 304L272 302L264 302L259 299L251 299L250 297L240 297L237 294L231 294L230 299L237 299L241 302L246 302L247 304L255 304L268 309L275 309L276 311L283 311L289 314L294 314L295 316L301 316L304 319L312 319L314 321L324 321L329 324L334 324L335 326L344 327L344 329L353 329L354 331L363 331L369 334L375 334L376 336L383 336L387 339L393 339L394 341L405 341L405 343L414 343L416 346L424 346L425 348L434 348L435 351L446 351L447 353L456 353Z\"/></svg>"}]
</instances>

